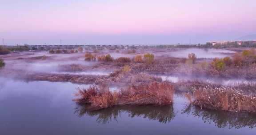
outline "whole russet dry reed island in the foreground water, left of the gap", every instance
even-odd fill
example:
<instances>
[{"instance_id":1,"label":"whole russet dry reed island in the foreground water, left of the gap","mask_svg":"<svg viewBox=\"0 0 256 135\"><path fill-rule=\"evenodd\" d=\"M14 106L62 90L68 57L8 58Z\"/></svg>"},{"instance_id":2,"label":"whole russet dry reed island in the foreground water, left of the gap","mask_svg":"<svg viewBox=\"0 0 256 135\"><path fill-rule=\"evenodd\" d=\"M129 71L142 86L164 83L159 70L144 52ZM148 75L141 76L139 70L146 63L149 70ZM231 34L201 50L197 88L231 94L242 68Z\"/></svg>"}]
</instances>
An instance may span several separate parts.
<instances>
[{"instance_id":1,"label":"whole russet dry reed island in the foreground water, left of the gap","mask_svg":"<svg viewBox=\"0 0 256 135\"><path fill-rule=\"evenodd\" d=\"M116 105L168 105L173 102L174 87L167 83L145 83L120 91L110 91L108 87L78 89L74 99L77 103L89 103L90 108L99 110Z\"/></svg>"}]
</instances>

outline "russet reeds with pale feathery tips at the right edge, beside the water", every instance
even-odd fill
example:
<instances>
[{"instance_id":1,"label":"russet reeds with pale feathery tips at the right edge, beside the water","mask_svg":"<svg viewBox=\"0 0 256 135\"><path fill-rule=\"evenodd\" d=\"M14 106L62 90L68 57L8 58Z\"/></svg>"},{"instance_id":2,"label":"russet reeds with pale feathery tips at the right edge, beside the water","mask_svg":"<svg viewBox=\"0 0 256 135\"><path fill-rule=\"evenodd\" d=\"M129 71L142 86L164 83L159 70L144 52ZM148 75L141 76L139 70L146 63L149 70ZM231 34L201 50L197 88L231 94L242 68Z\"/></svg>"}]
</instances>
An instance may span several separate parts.
<instances>
[{"instance_id":1,"label":"russet reeds with pale feathery tips at the right edge, beside the water","mask_svg":"<svg viewBox=\"0 0 256 135\"><path fill-rule=\"evenodd\" d=\"M186 97L201 108L256 112L256 95L245 94L232 87L192 88L192 94L186 94Z\"/></svg>"}]
</instances>

